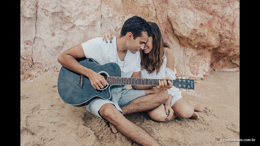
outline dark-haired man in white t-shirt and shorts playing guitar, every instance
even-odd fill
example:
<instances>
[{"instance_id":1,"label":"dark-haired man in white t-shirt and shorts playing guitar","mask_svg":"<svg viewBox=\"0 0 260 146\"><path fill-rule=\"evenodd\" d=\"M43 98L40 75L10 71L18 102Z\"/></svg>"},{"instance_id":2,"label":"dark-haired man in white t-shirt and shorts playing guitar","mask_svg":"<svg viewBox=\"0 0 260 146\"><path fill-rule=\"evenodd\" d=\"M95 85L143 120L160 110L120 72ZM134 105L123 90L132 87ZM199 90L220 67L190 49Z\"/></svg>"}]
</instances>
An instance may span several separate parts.
<instances>
[{"instance_id":1,"label":"dark-haired man in white t-shirt and shorts playing guitar","mask_svg":"<svg viewBox=\"0 0 260 146\"><path fill-rule=\"evenodd\" d=\"M100 90L109 85L105 78L82 66L75 58L92 58L99 64L115 62L120 66L122 77L141 78L140 49L151 36L149 24L141 17L133 16L123 24L116 41L105 43L101 37L74 46L58 57L65 68L85 75L94 89ZM168 79L169 78L164 78ZM156 89L152 85L132 85L133 89L113 88L112 101L97 98L86 105L87 111L109 122L113 133L118 130L126 138L141 145L161 145L141 127L127 120L123 114L143 112L154 109L167 99L167 89L172 87L166 80L159 81ZM152 88L153 87L153 88ZM146 90L145 90L146 89Z\"/></svg>"}]
</instances>

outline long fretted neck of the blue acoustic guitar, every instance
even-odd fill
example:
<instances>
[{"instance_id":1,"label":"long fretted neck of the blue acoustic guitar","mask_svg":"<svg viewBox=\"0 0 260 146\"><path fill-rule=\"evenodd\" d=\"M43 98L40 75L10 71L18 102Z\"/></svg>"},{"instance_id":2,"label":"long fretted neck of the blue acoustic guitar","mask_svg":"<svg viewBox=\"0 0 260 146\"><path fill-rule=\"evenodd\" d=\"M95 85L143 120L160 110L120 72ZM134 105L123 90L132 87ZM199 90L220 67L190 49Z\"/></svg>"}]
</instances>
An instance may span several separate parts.
<instances>
[{"instance_id":1,"label":"long fretted neck of the blue acoustic guitar","mask_svg":"<svg viewBox=\"0 0 260 146\"><path fill-rule=\"evenodd\" d=\"M162 79L107 77L107 82L110 85L159 85L159 80ZM170 81L173 82L173 80ZM169 85L168 82L167 85Z\"/></svg>"}]
</instances>

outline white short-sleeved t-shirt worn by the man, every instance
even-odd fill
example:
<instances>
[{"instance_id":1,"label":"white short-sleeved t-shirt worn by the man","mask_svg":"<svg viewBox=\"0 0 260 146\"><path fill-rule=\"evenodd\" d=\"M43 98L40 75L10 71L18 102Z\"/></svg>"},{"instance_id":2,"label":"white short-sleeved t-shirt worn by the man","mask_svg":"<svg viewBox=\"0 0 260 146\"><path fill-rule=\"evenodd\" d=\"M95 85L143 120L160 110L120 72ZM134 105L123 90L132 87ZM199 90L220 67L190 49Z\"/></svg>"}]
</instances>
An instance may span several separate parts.
<instances>
[{"instance_id":1,"label":"white short-sleeved t-shirt worn by the man","mask_svg":"<svg viewBox=\"0 0 260 146\"><path fill-rule=\"evenodd\" d=\"M134 72L141 71L140 52L135 54L127 51L124 61L118 57L116 50L116 36L112 39L112 43L106 43L102 37L96 37L81 44L84 54L87 58L92 58L98 64L106 64L109 62L117 63L122 72L122 77L131 77Z\"/></svg>"}]
</instances>

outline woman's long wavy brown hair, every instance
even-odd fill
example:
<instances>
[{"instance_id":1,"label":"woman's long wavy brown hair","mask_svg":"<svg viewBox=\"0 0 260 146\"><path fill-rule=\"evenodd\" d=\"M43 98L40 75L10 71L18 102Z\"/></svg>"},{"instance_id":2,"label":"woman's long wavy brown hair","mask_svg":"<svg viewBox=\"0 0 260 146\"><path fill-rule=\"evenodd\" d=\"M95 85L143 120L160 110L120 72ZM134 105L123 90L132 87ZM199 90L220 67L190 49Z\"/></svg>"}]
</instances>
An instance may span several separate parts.
<instances>
[{"instance_id":1,"label":"woman's long wavy brown hair","mask_svg":"<svg viewBox=\"0 0 260 146\"><path fill-rule=\"evenodd\" d=\"M141 70L145 69L149 74L156 70L156 74L160 71L163 63L164 47L168 47L167 43L163 42L161 31L158 25L154 22L148 22L152 30L153 48L152 58L149 58L148 54L145 54L143 50L140 51L141 55ZM168 47L169 48L169 47ZM149 69L149 66L151 68Z\"/></svg>"}]
</instances>

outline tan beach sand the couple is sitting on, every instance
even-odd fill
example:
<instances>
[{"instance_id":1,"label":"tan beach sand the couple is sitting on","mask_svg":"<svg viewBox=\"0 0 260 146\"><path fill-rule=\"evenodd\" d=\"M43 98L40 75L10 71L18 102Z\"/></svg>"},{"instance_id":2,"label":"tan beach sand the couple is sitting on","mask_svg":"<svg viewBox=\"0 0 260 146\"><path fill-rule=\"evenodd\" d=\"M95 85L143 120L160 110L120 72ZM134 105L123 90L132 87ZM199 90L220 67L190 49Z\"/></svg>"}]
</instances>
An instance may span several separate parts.
<instances>
[{"instance_id":1,"label":"tan beach sand the couple is sitting on","mask_svg":"<svg viewBox=\"0 0 260 146\"><path fill-rule=\"evenodd\" d=\"M185 76L185 75L183 75ZM162 145L219 145L214 137L237 139L240 136L239 74L211 71L196 79L195 90L182 92L185 100L206 107L198 113L200 120L177 117L156 122L146 113L125 115ZM103 120L86 108L65 104L57 92L58 72L20 81L21 146L137 146L120 133L112 134ZM223 141L236 146L239 142Z\"/></svg>"}]
</instances>

